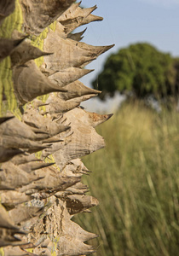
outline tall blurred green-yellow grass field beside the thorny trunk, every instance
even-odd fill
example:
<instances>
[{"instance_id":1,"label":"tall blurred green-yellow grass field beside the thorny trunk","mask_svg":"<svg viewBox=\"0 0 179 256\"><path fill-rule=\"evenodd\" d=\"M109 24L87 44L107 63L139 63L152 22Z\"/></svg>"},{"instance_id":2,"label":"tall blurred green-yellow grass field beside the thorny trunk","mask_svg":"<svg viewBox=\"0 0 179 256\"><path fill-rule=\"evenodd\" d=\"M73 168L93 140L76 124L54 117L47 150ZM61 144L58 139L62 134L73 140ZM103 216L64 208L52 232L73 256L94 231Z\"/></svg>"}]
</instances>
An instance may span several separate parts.
<instances>
[{"instance_id":1,"label":"tall blurred green-yellow grass field beside the thorny trunk","mask_svg":"<svg viewBox=\"0 0 179 256\"><path fill-rule=\"evenodd\" d=\"M84 182L100 206L75 217L100 236L95 255L179 255L179 113L128 104L98 132L107 147L84 158Z\"/></svg>"}]
</instances>

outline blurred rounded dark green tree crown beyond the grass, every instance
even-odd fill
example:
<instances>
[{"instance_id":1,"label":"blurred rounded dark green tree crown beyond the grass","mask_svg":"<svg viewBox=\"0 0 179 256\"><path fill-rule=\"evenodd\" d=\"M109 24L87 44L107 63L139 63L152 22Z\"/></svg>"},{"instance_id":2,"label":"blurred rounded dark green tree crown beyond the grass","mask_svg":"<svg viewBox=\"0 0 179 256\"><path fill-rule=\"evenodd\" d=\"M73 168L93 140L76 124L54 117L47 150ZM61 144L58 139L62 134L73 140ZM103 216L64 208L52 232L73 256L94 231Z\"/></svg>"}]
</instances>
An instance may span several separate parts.
<instances>
[{"instance_id":1,"label":"blurred rounded dark green tree crown beyond the grass","mask_svg":"<svg viewBox=\"0 0 179 256\"><path fill-rule=\"evenodd\" d=\"M108 57L92 85L95 88L98 81L99 90L103 91L101 99L106 94L113 96L116 90L132 91L137 98L151 94L157 98L175 96L178 63L150 44L132 44Z\"/></svg>"}]
</instances>

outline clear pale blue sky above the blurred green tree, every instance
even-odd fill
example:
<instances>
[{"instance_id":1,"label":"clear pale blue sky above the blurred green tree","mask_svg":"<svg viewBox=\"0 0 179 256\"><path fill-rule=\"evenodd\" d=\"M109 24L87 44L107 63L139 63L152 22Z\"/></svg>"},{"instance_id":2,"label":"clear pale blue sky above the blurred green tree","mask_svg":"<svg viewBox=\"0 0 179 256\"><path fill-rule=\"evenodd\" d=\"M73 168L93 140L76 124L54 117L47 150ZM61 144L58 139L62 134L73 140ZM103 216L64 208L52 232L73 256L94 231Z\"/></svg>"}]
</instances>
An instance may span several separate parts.
<instances>
[{"instance_id":1,"label":"clear pale blue sky above the blurred green tree","mask_svg":"<svg viewBox=\"0 0 179 256\"><path fill-rule=\"evenodd\" d=\"M85 85L95 78L107 55L136 42L147 42L179 56L179 0L83 0L84 8L97 4L94 15L104 18L87 26L83 41L93 45L115 44L87 68L94 69L81 79ZM80 27L78 31L84 29Z\"/></svg>"}]
</instances>

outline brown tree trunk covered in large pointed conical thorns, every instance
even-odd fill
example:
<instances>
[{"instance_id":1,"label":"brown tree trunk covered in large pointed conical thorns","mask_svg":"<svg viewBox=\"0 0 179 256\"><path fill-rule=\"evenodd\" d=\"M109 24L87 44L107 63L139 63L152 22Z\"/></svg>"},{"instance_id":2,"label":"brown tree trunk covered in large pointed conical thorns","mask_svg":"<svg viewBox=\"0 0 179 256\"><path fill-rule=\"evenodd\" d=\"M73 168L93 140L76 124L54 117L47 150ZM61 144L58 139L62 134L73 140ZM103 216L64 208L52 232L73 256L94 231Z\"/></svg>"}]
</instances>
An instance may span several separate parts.
<instances>
[{"instance_id":1,"label":"brown tree trunk covered in large pointed conical thorns","mask_svg":"<svg viewBox=\"0 0 179 256\"><path fill-rule=\"evenodd\" d=\"M80 160L104 147L95 131L111 115L80 102L79 78L111 46L81 43L78 26L101 17L74 0L0 0L0 254L84 255L96 235L72 222L98 201L85 195Z\"/></svg>"}]
</instances>

